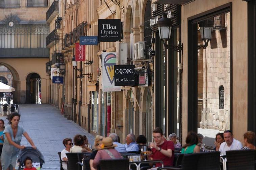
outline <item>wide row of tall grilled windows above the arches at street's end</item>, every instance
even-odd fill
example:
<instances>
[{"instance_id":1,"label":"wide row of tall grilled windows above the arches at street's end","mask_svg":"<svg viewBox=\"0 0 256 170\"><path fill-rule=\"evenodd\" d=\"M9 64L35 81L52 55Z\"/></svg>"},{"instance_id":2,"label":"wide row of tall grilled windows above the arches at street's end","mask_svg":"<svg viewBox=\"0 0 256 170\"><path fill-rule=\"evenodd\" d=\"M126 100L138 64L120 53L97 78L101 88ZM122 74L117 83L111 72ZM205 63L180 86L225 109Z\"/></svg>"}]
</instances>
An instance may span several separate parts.
<instances>
[{"instance_id":1,"label":"wide row of tall grilled windows above the arches at street's end","mask_svg":"<svg viewBox=\"0 0 256 170\"><path fill-rule=\"evenodd\" d=\"M46 48L47 24L0 25L0 48Z\"/></svg>"}]
</instances>

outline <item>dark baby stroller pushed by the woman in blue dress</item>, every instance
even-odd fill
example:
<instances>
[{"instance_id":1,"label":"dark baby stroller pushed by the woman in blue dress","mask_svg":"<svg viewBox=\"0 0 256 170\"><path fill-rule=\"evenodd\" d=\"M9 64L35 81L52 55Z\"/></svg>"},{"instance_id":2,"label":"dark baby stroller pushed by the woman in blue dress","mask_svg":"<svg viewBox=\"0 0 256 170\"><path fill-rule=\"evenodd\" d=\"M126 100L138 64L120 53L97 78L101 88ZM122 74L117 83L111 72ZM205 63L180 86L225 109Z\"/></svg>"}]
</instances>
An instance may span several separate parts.
<instances>
[{"instance_id":1,"label":"dark baby stroller pushed by the woman in blue dress","mask_svg":"<svg viewBox=\"0 0 256 170\"><path fill-rule=\"evenodd\" d=\"M24 169L25 165L23 164L24 160L30 157L33 160L33 167L36 168L36 170L41 170L43 164L45 163L44 156L38 149L33 149L30 146L25 147L25 149L20 150L18 158L17 158L17 164L15 169L22 170Z\"/></svg>"}]
</instances>

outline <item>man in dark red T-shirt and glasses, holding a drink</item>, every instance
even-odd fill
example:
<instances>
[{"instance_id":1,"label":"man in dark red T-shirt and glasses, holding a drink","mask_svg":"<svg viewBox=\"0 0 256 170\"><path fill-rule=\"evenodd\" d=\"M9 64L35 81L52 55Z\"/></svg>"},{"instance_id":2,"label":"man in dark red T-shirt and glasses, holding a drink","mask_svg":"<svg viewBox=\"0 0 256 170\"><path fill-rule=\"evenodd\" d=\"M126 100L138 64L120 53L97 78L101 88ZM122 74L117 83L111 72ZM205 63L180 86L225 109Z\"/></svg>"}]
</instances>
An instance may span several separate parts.
<instances>
[{"instance_id":1,"label":"man in dark red T-shirt and glasses, holding a drink","mask_svg":"<svg viewBox=\"0 0 256 170\"><path fill-rule=\"evenodd\" d=\"M157 127L153 131L153 138L155 143L150 143L149 147L151 148L151 160L162 160L164 167L173 166L174 161L174 144L172 141L167 141L163 139L163 131L161 128ZM152 170L161 167L161 163L156 163Z\"/></svg>"}]
</instances>

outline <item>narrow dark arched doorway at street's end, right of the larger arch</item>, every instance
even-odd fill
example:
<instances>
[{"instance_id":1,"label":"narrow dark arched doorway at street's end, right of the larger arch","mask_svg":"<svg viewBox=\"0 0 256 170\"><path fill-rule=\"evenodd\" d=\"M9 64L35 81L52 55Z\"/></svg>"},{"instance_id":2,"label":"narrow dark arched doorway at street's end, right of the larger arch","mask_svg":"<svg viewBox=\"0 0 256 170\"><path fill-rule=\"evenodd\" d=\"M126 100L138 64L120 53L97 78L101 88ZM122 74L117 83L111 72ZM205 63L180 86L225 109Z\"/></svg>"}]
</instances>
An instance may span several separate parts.
<instances>
[{"instance_id":1,"label":"narrow dark arched doorway at street's end, right of the larger arch","mask_svg":"<svg viewBox=\"0 0 256 170\"><path fill-rule=\"evenodd\" d=\"M37 73L27 75L26 103L41 104L41 77Z\"/></svg>"}]
</instances>

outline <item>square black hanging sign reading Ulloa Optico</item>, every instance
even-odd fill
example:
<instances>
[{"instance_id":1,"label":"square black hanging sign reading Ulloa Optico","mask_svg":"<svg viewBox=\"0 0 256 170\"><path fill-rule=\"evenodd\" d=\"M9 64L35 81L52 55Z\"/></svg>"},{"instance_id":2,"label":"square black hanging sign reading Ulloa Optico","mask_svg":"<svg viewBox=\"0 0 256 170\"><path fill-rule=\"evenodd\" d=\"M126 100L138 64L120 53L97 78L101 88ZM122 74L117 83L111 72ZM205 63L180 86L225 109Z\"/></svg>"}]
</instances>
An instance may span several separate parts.
<instances>
[{"instance_id":1,"label":"square black hanging sign reading Ulloa Optico","mask_svg":"<svg viewBox=\"0 0 256 170\"><path fill-rule=\"evenodd\" d=\"M116 42L121 40L121 20L98 20L99 42Z\"/></svg>"}]
</instances>

